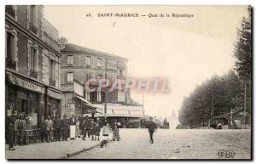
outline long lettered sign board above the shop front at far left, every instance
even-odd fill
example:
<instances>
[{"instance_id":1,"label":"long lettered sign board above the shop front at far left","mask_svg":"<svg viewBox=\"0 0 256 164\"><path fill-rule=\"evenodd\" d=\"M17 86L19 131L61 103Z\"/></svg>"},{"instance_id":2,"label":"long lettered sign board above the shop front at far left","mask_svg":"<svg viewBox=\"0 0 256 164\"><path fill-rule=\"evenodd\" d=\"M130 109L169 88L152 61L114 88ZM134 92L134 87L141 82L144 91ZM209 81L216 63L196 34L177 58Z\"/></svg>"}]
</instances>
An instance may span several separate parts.
<instances>
[{"instance_id":1,"label":"long lettered sign board above the shop front at far left","mask_svg":"<svg viewBox=\"0 0 256 164\"><path fill-rule=\"evenodd\" d=\"M34 82L29 82L29 81L27 81L23 78L15 76L15 75L10 75L9 74L9 82L11 82L12 84L15 84L17 86L20 86L22 88L26 88L26 89L29 89L29 90L32 90L32 91L35 91L35 92L38 92L38 93L44 93L44 88L43 87L37 85Z\"/></svg>"}]
</instances>

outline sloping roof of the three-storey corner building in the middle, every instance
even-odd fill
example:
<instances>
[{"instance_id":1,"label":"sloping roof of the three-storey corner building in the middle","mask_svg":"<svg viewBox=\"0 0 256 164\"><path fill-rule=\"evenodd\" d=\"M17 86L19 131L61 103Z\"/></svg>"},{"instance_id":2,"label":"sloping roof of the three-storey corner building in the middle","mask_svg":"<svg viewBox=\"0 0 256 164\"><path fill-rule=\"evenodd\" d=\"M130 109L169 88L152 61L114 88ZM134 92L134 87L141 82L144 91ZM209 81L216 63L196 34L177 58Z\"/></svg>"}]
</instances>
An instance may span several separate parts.
<instances>
[{"instance_id":1,"label":"sloping roof of the three-storey corner building in the middle","mask_svg":"<svg viewBox=\"0 0 256 164\"><path fill-rule=\"evenodd\" d=\"M82 46L72 44L72 43L65 44L65 47L61 49L61 53L67 53L67 52L73 52L73 53L75 53L75 52L78 53L79 52L79 53L96 54L96 55L102 55L102 56L106 56L106 57L119 58L119 59L123 59L125 61L128 61L128 59L120 57L120 56L104 53L104 52L101 52L101 51L97 51L95 49L84 48Z\"/></svg>"}]
</instances>

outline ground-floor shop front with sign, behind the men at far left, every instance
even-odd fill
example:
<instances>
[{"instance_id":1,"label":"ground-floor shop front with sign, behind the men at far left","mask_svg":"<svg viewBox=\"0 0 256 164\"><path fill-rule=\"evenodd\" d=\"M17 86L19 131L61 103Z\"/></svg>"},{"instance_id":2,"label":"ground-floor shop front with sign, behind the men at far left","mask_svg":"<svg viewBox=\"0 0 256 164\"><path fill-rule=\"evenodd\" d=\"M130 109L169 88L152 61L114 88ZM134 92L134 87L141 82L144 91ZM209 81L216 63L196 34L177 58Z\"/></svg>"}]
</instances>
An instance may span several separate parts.
<instances>
[{"instance_id":1,"label":"ground-floor shop front with sign, behind the men at far left","mask_svg":"<svg viewBox=\"0 0 256 164\"><path fill-rule=\"evenodd\" d=\"M32 125L44 114L44 86L38 82L11 72L6 73L5 84L6 116L15 110L17 115L30 115Z\"/></svg>"}]
</instances>

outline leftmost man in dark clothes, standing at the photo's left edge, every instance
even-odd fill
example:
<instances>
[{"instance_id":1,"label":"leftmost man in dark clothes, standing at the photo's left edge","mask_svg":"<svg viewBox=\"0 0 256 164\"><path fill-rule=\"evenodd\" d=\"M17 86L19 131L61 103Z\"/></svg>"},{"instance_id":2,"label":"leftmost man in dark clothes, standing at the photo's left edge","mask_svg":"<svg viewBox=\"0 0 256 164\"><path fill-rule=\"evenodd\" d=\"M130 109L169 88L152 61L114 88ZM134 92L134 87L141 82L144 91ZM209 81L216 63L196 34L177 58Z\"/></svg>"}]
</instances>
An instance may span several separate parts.
<instances>
[{"instance_id":1,"label":"leftmost man in dark clothes, standing at the photo's left edge","mask_svg":"<svg viewBox=\"0 0 256 164\"><path fill-rule=\"evenodd\" d=\"M8 144L9 144L9 150L15 150L14 144L15 144L15 110L12 110L11 115L7 117L7 128L8 128Z\"/></svg>"}]
</instances>

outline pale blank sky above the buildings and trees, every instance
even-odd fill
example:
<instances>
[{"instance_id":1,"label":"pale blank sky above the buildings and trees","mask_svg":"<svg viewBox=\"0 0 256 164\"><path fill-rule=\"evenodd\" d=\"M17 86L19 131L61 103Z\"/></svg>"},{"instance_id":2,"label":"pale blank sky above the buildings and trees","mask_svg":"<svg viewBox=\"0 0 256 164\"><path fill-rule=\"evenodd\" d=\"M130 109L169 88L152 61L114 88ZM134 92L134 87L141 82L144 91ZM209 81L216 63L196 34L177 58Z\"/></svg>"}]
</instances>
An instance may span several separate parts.
<instances>
[{"instance_id":1,"label":"pale blank sky above the buildings and trees","mask_svg":"<svg viewBox=\"0 0 256 164\"><path fill-rule=\"evenodd\" d=\"M194 17L99 18L99 13ZM130 76L168 79L170 93L131 92L146 114L162 117L177 113L196 85L234 67L233 43L243 16L247 6L44 6L44 17L68 42L129 59Z\"/></svg>"}]
</instances>

